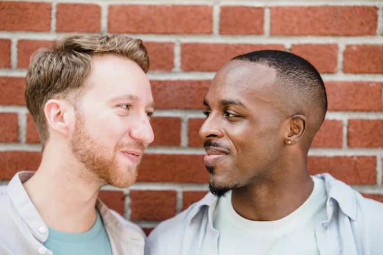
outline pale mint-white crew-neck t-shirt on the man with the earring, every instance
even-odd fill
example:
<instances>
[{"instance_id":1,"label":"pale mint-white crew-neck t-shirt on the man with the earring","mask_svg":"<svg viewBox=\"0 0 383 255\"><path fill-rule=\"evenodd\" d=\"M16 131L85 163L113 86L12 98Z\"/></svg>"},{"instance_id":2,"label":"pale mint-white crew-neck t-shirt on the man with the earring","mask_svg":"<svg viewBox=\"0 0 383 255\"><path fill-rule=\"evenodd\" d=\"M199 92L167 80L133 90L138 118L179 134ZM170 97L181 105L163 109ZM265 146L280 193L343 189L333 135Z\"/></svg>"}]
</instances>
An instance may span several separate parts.
<instances>
[{"instance_id":1,"label":"pale mint-white crew-neck t-shirt on the man with the earring","mask_svg":"<svg viewBox=\"0 0 383 255\"><path fill-rule=\"evenodd\" d=\"M275 221L252 221L231 204L231 193L214 210L213 227L219 231L219 255L319 255L316 226L327 219L327 193L317 177L309 198L294 212ZM289 201L286 201L288 203Z\"/></svg>"}]
</instances>

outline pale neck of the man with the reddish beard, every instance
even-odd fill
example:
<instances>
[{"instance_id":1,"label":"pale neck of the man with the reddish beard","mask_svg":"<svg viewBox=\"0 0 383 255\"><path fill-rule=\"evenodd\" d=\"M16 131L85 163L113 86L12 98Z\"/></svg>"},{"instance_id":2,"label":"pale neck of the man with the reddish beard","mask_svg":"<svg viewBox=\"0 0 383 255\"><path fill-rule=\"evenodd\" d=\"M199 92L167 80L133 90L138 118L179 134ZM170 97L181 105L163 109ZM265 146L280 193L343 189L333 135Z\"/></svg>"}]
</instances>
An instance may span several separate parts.
<instances>
[{"instance_id":1,"label":"pale neck of the man with the reddish beard","mask_svg":"<svg viewBox=\"0 0 383 255\"><path fill-rule=\"evenodd\" d=\"M23 186L48 227L83 233L96 220L95 205L102 184L95 182L97 177L73 156L65 155L71 155L69 149L45 148L39 169Z\"/></svg>"}]
</instances>

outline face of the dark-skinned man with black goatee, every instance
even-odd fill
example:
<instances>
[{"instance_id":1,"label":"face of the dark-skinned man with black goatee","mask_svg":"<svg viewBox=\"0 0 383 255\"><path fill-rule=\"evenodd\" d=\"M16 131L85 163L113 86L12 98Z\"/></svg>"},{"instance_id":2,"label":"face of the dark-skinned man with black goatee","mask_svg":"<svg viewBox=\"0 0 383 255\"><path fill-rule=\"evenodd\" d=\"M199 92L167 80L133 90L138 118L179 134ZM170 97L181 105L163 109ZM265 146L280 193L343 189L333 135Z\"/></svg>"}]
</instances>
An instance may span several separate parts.
<instances>
[{"instance_id":1,"label":"face of the dark-skinned man with black goatee","mask_svg":"<svg viewBox=\"0 0 383 255\"><path fill-rule=\"evenodd\" d=\"M276 71L234 60L214 77L200 129L210 190L217 196L268 178L283 146L284 109L274 86Z\"/></svg>"}]
</instances>

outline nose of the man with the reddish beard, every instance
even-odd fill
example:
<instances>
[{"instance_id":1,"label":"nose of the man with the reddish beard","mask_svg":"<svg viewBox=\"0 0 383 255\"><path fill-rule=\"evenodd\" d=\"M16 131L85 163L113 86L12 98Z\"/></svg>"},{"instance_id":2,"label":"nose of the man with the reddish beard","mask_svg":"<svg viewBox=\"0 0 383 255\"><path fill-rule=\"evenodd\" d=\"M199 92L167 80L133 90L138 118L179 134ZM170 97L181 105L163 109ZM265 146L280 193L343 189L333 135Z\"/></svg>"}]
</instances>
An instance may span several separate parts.
<instances>
[{"instance_id":1,"label":"nose of the man with the reddish beard","mask_svg":"<svg viewBox=\"0 0 383 255\"><path fill-rule=\"evenodd\" d=\"M130 129L130 136L133 139L142 142L146 146L153 142L153 128L150 125L149 118L146 116L146 113L144 116L135 120L135 124Z\"/></svg>"}]
</instances>

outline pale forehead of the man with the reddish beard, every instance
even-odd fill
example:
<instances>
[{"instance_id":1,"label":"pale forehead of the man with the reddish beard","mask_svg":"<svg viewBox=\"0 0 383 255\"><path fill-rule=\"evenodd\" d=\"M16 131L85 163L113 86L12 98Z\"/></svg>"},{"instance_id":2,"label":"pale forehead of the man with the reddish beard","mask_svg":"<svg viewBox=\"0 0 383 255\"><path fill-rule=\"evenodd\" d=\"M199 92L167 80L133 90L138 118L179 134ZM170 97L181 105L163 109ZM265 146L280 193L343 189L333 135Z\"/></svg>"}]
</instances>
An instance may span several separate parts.
<instances>
[{"instance_id":1,"label":"pale forehead of the man with the reddish beard","mask_svg":"<svg viewBox=\"0 0 383 255\"><path fill-rule=\"evenodd\" d=\"M86 84L87 95L104 101L115 95L131 94L153 101L149 80L134 61L112 54L92 57L92 70Z\"/></svg>"}]
</instances>

